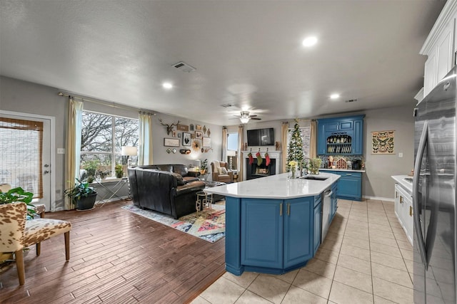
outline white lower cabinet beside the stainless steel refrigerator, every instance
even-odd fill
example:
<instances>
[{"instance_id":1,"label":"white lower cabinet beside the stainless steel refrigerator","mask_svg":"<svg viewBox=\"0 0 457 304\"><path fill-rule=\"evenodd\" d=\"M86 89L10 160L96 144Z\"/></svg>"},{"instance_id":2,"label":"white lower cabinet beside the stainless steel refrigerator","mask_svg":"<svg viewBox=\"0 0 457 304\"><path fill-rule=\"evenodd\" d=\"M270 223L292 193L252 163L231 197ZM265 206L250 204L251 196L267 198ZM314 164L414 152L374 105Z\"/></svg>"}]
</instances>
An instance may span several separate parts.
<instances>
[{"instance_id":1,"label":"white lower cabinet beside the stainless steel refrigerator","mask_svg":"<svg viewBox=\"0 0 457 304\"><path fill-rule=\"evenodd\" d=\"M395 184L395 214L409 242L413 245L413 198L400 184Z\"/></svg>"}]
</instances>

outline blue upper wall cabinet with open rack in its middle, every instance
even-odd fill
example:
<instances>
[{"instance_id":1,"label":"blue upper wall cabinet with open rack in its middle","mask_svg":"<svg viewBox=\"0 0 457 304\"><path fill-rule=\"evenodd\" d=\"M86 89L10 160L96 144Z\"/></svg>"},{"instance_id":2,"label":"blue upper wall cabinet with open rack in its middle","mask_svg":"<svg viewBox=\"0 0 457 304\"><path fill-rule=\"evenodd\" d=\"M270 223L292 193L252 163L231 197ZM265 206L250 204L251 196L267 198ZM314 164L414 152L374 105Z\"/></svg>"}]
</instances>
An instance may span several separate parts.
<instances>
[{"instance_id":1,"label":"blue upper wall cabinet with open rack in its middle","mask_svg":"<svg viewBox=\"0 0 457 304\"><path fill-rule=\"evenodd\" d=\"M363 117L365 115L317 120L318 154L363 154Z\"/></svg>"}]
</instances>

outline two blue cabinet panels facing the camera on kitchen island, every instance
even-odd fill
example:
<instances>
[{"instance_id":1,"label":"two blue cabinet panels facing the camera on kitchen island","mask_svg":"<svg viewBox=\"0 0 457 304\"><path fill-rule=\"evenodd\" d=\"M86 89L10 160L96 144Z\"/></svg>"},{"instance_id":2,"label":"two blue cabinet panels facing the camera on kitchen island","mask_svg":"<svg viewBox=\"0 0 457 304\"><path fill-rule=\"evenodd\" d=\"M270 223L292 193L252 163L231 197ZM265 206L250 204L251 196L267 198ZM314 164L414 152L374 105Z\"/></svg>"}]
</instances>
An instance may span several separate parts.
<instances>
[{"instance_id":1,"label":"two blue cabinet panels facing the camera on kitchen island","mask_svg":"<svg viewBox=\"0 0 457 304\"><path fill-rule=\"evenodd\" d=\"M241 265L251 271L271 268L271 273L305 265L313 257L313 206L313 196L243 199Z\"/></svg>"}]
</instances>

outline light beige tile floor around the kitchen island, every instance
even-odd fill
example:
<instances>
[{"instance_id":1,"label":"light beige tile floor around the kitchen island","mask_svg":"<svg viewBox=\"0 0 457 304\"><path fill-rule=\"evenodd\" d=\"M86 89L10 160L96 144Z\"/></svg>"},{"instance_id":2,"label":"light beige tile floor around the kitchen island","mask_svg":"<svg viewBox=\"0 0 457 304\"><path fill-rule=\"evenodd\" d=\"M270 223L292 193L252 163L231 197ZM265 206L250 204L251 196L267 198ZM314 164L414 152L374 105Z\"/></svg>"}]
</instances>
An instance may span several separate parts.
<instances>
[{"instance_id":1,"label":"light beige tile floor around the kitchen island","mask_svg":"<svg viewBox=\"0 0 457 304\"><path fill-rule=\"evenodd\" d=\"M413 248L392 201L338 200L325 241L282 276L225 273L193 304L413 303Z\"/></svg>"}]
</instances>

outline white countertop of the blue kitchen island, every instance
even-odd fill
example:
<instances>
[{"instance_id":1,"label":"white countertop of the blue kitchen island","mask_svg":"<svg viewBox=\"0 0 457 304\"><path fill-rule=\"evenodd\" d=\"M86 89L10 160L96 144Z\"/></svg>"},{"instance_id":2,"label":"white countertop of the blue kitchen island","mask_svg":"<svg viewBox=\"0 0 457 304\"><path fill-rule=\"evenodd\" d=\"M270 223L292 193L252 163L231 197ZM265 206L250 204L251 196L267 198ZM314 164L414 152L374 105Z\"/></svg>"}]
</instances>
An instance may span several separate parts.
<instances>
[{"instance_id":1,"label":"white countertop of the blue kitchen island","mask_svg":"<svg viewBox=\"0 0 457 304\"><path fill-rule=\"evenodd\" d=\"M293 199L321 194L340 178L337 174L323 172L318 176L328 177L324 181L288 179L288 175L288 173L276 174L269 177L206 188L204 191L224 196L252 199Z\"/></svg>"}]
</instances>

